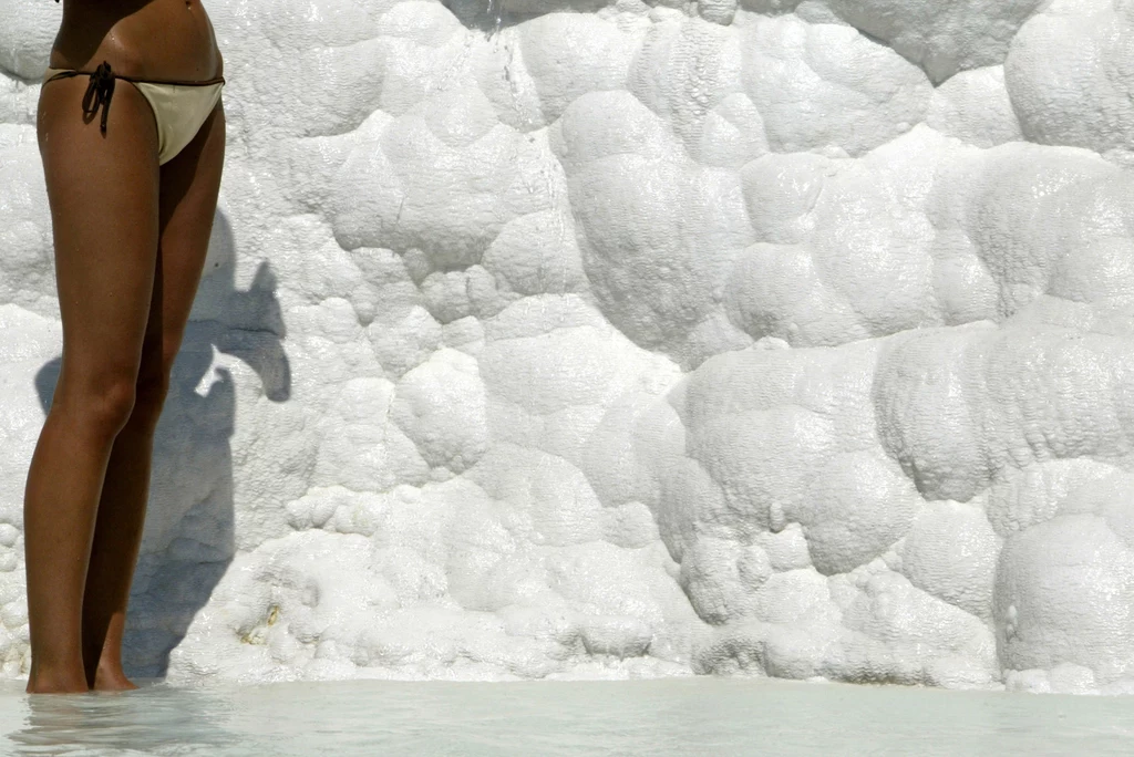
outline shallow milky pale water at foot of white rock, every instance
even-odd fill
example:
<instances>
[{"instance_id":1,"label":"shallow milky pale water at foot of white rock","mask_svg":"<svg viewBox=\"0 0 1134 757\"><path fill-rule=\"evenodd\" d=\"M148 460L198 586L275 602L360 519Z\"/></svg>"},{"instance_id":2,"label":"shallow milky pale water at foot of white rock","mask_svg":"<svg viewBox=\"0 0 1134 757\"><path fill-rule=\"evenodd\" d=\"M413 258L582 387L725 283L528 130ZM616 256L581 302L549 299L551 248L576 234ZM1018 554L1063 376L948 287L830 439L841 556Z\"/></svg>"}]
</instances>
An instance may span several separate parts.
<instances>
[{"instance_id":1,"label":"shallow milky pale water at foot of white rock","mask_svg":"<svg viewBox=\"0 0 1134 757\"><path fill-rule=\"evenodd\" d=\"M27 697L6 755L1129 755L1134 697L752 679L350 681Z\"/></svg>"}]
</instances>

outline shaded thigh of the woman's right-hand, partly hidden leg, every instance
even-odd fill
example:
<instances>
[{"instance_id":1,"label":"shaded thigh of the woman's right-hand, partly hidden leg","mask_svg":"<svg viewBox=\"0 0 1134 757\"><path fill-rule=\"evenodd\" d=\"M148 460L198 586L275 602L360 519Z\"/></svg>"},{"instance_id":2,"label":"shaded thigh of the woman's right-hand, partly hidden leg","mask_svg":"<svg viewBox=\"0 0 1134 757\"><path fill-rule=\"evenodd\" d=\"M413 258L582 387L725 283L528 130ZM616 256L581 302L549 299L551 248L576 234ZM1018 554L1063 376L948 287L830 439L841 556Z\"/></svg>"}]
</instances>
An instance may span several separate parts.
<instances>
[{"instance_id":1,"label":"shaded thigh of the woman's right-hand, partly hidden leg","mask_svg":"<svg viewBox=\"0 0 1134 757\"><path fill-rule=\"evenodd\" d=\"M146 333L146 364L168 372L196 296L225 163L225 108L218 102L197 135L161 167L158 275ZM160 345L160 349L159 349Z\"/></svg>"}]
</instances>

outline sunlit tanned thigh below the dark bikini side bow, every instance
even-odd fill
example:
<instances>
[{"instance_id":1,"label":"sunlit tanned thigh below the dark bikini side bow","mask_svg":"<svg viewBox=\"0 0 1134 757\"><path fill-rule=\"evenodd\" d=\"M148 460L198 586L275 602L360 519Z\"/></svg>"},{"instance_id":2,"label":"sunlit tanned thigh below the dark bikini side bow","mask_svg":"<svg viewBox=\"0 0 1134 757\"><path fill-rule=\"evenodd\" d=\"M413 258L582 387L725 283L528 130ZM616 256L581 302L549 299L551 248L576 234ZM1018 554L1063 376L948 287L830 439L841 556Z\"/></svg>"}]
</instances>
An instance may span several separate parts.
<instances>
[{"instance_id":1,"label":"sunlit tanned thigh below the dark bikini side bow","mask_svg":"<svg viewBox=\"0 0 1134 757\"><path fill-rule=\"evenodd\" d=\"M150 104L119 83L102 134L98 118L84 122L86 85L85 76L44 84L36 113L64 325L64 394L113 390L136 373L158 253Z\"/></svg>"}]
</instances>

